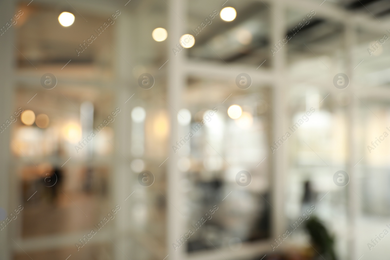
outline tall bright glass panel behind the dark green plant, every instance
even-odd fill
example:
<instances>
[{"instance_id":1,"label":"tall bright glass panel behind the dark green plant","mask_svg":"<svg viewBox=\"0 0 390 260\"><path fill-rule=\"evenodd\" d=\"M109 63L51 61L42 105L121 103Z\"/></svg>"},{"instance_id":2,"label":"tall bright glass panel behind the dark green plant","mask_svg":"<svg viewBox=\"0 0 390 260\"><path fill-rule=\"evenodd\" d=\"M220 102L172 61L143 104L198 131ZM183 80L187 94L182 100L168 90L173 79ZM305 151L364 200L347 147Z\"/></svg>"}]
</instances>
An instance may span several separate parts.
<instances>
[{"instance_id":1,"label":"tall bright glass panel behind the dark green plant","mask_svg":"<svg viewBox=\"0 0 390 260\"><path fill-rule=\"evenodd\" d=\"M347 182L334 182L333 176L347 170L351 100L332 81L347 69L344 27L313 10L289 10L287 17L291 39L282 47L287 47L290 82L287 229L293 242L308 246L306 219L318 217L336 238L336 254L343 258L348 239ZM299 219L305 220L296 222ZM305 227L295 230L300 222Z\"/></svg>"}]
</instances>

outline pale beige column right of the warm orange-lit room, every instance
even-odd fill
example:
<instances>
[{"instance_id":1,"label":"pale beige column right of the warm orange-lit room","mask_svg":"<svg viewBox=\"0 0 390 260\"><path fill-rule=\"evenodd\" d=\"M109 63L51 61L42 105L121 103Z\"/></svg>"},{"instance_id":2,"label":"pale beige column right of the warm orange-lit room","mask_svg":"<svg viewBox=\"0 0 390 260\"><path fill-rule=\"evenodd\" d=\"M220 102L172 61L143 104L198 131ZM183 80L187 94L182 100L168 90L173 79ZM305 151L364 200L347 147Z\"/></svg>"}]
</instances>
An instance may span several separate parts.
<instances>
[{"instance_id":1,"label":"pale beige column right of the warm orange-lit room","mask_svg":"<svg viewBox=\"0 0 390 260\"><path fill-rule=\"evenodd\" d=\"M129 12L120 10L121 15L115 21L115 37L111 46L108 48L112 49L112 53L115 57L115 80L114 80L114 89L115 89L115 101L113 103L113 109L119 107L121 112L115 118L115 141L113 145L114 148L114 175L112 181L112 192L113 192L113 206L119 204L121 210L115 216L115 228L114 236L111 240L115 243L116 246L113 246L113 256L115 260L127 260L132 258L131 250L131 241L129 239L129 230L131 228L131 197L126 201L125 199L133 192L133 171L131 169L131 164L129 161L130 158L130 120L131 120L131 101L133 101L135 96L133 96L129 101L126 100L134 93L136 86L131 85L130 82L133 80L133 71L131 67L135 67L133 64L134 58L134 48L132 40L133 32L133 19ZM118 53L119 54L118 54ZM130 64L130 65L129 65ZM137 94L136 94L137 95ZM125 104L126 102L126 104ZM126 157L126 158L125 158ZM132 195L134 196L134 194ZM123 252L123 253L122 253ZM126 254L126 256L124 255Z\"/></svg>"}]
</instances>

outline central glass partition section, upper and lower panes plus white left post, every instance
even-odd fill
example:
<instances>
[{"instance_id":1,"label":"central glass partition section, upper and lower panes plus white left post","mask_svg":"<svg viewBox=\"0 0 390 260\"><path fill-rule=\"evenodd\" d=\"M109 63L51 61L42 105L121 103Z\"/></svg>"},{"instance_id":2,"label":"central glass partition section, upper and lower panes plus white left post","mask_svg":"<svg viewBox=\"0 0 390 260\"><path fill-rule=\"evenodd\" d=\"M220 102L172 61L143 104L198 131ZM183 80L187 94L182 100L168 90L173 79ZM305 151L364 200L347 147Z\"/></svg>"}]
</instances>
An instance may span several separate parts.
<instances>
[{"instance_id":1,"label":"central glass partition section, upper and lower panes plus white left post","mask_svg":"<svg viewBox=\"0 0 390 260\"><path fill-rule=\"evenodd\" d=\"M183 34L194 35L195 44L172 50L167 64L177 129L167 161L168 257L258 256L268 251L277 214L269 150L277 117L269 9L231 1L226 6L237 18L227 23L220 18L223 3L172 4L186 9L171 17L171 45Z\"/></svg>"}]
</instances>

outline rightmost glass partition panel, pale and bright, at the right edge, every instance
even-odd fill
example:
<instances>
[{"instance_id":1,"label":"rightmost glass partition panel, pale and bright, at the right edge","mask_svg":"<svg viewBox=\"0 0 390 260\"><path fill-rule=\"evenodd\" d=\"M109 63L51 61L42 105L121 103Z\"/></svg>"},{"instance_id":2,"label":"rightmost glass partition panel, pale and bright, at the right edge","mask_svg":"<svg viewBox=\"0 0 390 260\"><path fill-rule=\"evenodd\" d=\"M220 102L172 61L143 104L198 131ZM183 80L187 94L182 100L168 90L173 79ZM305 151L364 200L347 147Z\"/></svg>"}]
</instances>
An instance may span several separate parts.
<instances>
[{"instance_id":1,"label":"rightmost glass partition panel, pale and bright, at the right edge","mask_svg":"<svg viewBox=\"0 0 390 260\"><path fill-rule=\"evenodd\" d=\"M386 246L374 240L387 229L388 192L388 60L389 46L383 44L388 32L356 28L355 53L364 60L356 67L356 127L358 159L356 180L356 246L359 254L383 258ZM379 42L379 43L378 43ZM386 42L385 42L386 43Z\"/></svg>"}]
</instances>

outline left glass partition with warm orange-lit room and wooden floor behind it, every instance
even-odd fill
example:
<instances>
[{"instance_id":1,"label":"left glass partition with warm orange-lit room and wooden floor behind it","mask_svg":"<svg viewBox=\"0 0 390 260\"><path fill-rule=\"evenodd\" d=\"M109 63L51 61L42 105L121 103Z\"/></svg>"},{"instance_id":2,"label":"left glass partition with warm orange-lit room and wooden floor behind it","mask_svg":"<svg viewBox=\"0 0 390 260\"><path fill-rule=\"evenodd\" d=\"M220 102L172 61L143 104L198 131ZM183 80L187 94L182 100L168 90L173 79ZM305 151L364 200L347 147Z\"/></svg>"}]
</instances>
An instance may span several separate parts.
<instances>
[{"instance_id":1,"label":"left glass partition with warm orange-lit room and wooden floor behind it","mask_svg":"<svg viewBox=\"0 0 390 260\"><path fill-rule=\"evenodd\" d=\"M62 11L71 11L67 6L14 4L9 12L21 10L14 38L1 41L14 45L7 50L16 65L13 95L3 101L17 120L3 133L11 158L9 181L1 182L9 195L1 198L9 200L5 212L23 209L2 226L0 258L163 259L161 164L170 126L164 62L155 65L165 46L149 32L166 27L166 4L156 15L152 3L137 5L137 14L129 11L132 3L90 9L71 2L80 12L71 27L58 23ZM91 34L96 39L84 41ZM156 78L151 90L138 85L144 73ZM138 181L145 170L153 174L151 187Z\"/></svg>"}]
</instances>

